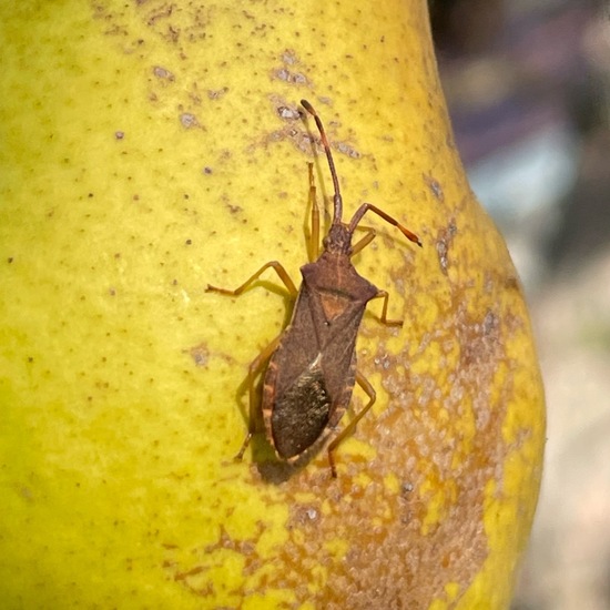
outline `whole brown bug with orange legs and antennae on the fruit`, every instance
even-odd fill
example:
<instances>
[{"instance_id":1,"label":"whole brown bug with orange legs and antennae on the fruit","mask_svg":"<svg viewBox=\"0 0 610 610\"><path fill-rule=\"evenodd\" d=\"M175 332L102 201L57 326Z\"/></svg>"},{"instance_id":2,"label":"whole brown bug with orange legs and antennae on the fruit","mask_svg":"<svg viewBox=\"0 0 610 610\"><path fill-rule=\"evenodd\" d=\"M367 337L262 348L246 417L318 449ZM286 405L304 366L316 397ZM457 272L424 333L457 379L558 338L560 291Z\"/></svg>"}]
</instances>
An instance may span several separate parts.
<instances>
[{"instance_id":1,"label":"whole brown bug with orange legs and antennae on the fruit","mask_svg":"<svg viewBox=\"0 0 610 610\"><path fill-rule=\"evenodd\" d=\"M255 379L268 360L263 383L261 409L265 431L275 454L282 460L298 460L316 441L323 441L343 417L357 383L368 396L366 406L328 445L328 462L336 477L333 451L356 428L357 423L375 403L373 386L356 369L356 335L366 304L383 298L382 323L401 326L386 318L388 293L379 291L362 277L350 257L375 238L375 231L352 246L354 231L367 212L375 212L411 242L421 246L419 237L370 203L363 203L349 224L342 222L343 202L335 163L326 132L316 111L306 101L301 103L315 119L328 160L335 194L334 215L328 235L319 250L319 211L315 200L313 164L309 163L309 199L312 201L311 254L315 262L301 267L303 283L297 292L286 270L277 262L263 265L234 291L207 285L206 292L237 296L251 286L268 267L273 267L288 293L296 298L292 319L248 368L250 425L244 444L237 454L241 459L252 439L256 423Z\"/></svg>"}]
</instances>

